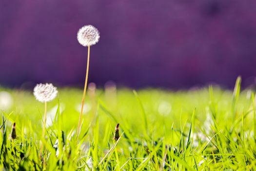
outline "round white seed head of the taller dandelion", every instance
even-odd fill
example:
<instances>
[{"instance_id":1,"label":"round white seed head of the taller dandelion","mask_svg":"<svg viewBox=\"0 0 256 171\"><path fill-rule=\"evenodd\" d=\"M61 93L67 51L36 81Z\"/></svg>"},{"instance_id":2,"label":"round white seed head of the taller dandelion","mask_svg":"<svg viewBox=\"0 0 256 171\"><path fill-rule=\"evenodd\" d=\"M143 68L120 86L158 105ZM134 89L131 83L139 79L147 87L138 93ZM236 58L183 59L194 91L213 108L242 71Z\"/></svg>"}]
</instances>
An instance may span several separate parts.
<instances>
[{"instance_id":1,"label":"round white seed head of the taller dandelion","mask_svg":"<svg viewBox=\"0 0 256 171\"><path fill-rule=\"evenodd\" d=\"M92 25L85 25L78 31L78 42L83 46L94 45L98 43L98 29Z\"/></svg>"}]
</instances>

